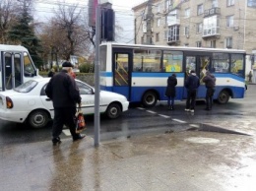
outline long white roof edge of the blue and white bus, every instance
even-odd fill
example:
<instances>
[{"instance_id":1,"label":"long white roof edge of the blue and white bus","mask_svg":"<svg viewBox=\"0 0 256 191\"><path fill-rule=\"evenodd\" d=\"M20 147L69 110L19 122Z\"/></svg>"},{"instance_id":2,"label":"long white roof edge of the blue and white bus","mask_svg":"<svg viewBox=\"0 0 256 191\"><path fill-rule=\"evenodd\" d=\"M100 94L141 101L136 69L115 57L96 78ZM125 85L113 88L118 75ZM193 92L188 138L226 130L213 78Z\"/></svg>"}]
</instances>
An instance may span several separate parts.
<instances>
[{"instance_id":1,"label":"long white roof edge of the blue and white bus","mask_svg":"<svg viewBox=\"0 0 256 191\"><path fill-rule=\"evenodd\" d=\"M188 47L188 46L167 46L167 45L147 45L147 44L128 44L128 43L116 43L116 42L102 42L101 45L109 44L112 47L131 47L131 48L160 48L166 50L189 50L189 51L209 51L209 52L228 52L228 53L244 53L242 49L227 49L227 48L205 48L205 47Z\"/></svg>"}]
</instances>

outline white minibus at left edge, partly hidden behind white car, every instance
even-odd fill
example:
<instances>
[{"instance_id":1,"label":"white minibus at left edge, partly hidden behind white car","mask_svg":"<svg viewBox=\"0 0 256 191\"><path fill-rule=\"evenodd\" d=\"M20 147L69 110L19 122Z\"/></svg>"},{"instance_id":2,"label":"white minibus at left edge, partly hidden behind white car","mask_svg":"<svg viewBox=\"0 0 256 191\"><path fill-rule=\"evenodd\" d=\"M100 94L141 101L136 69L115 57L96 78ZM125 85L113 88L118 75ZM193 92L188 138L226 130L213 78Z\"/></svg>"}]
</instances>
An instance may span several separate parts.
<instances>
[{"instance_id":1,"label":"white minibus at left edge, partly hidden behind white car","mask_svg":"<svg viewBox=\"0 0 256 191\"><path fill-rule=\"evenodd\" d=\"M33 78L42 78L24 46L0 44L0 63L0 91L12 90Z\"/></svg>"}]
</instances>

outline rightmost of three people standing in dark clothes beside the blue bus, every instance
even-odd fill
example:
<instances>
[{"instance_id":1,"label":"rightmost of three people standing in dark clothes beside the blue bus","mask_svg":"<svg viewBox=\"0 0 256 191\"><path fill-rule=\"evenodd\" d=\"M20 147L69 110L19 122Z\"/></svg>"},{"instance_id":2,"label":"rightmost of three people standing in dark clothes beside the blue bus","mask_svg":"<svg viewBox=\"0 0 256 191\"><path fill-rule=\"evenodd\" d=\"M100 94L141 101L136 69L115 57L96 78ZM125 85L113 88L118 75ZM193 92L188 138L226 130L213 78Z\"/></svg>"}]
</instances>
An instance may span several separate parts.
<instances>
[{"instance_id":1,"label":"rightmost of three people standing in dark clothes beside the blue bus","mask_svg":"<svg viewBox=\"0 0 256 191\"><path fill-rule=\"evenodd\" d=\"M209 71L206 72L206 76L203 78L203 82L206 85L206 108L205 110L211 110L213 105L213 96L215 94L216 78Z\"/></svg>"}]
</instances>

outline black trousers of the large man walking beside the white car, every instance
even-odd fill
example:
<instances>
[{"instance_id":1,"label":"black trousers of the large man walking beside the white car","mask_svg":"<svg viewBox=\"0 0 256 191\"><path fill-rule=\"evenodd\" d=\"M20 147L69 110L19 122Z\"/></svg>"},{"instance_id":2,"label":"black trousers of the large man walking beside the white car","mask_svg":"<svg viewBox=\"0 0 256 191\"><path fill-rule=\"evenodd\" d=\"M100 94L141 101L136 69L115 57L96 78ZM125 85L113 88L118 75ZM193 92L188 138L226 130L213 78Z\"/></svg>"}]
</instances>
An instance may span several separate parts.
<instances>
[{"instance_id":1,"label":"black trousers of the large man walking beside the white car","mask_svg":"<svg viewBox=\"0 0 256 191\"><path fill-rule=\"evenodd\" d=\"M64 124L69 127L73 138L79 135L76 133L76 112L76 107L54 108L54 119L52 125L53 138L60 136Z\"/></svg>"}]
</instances>

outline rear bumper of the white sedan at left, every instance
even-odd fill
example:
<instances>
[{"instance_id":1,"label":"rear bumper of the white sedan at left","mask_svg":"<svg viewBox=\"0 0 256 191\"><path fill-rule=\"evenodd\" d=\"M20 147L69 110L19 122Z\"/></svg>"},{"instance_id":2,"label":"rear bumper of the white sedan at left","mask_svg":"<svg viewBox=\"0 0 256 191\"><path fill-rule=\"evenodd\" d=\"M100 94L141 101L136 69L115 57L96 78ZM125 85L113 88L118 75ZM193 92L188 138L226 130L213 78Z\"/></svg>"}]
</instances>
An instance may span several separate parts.
<instances>
[{"instance_id":1,"label":"rear bumper of the white sedan at left","mask_svg":"<svg viewBox=\"0 0 256 191\"><path fill-rule=\"evenodd\" d=\"M23 123L26 120L27 116L28 112L24 111L0 110L0 119L5 121Z\"/></svg>"}]
</instances>

